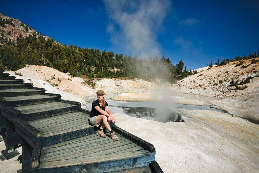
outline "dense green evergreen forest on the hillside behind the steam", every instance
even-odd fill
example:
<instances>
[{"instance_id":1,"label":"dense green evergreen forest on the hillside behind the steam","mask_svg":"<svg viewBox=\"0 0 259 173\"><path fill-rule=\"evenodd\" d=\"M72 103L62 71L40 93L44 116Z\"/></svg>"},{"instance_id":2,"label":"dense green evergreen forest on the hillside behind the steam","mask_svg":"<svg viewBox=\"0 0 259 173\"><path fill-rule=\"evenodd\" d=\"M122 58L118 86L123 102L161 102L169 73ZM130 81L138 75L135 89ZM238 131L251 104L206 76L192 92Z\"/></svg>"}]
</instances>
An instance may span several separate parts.
<instances>
[{"instance_id":1,"label":"dense green evergreen forest on the hillside behind the steam","mask_svg":"<svg viewBox=\"0 0 259 173\"><path fill-rule=\"evenodd\" d=\"M60 44L52 38L45 38L40 33L22 37L20 34L16 41L8 40L3 33L0 35L0 69L7 67L16 71L26 66L45 65L53 67L60 72L69 72L71 76L86 75L93 77L129 77L155 80L160 78L175 82L175 78L184 78L191 72L182 71L184 63L179 61L177 66L172 65L169 58L158 57L134 58L114 54L94 48L80 48L72 44ZM116 70L114 70L116 69Z\"/></svg>"}]
</instances>

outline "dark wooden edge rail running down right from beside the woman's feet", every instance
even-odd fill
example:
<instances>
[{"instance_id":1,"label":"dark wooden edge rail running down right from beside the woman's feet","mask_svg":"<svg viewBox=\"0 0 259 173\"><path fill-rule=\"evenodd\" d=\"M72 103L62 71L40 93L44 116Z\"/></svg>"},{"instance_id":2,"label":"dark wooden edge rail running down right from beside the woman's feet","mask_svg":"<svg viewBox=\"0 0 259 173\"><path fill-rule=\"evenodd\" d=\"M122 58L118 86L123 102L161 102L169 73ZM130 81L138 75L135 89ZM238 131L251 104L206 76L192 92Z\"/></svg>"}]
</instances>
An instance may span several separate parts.
<instances>
[{"instance_id":1,"label":"dark wooden edge rail running down right from beside the woman's feet","mask_svg":"<svg viewBox=\"0 0 259 173\"><path fill-rule=\"evenodd\" d=\"M124 136L125 138L131 140L135 144L138 144L139 146L142 146L144 149L146 149L146 150L148 150L150 152L155 152L156 151L155 147L152 144L150 144L150 143L148 143L148 142L138 138L137 136L132 135L131 133L129 133L129 132L127 132L127 131L117 127L116 125L113 125L112 129L115 132L117 132L117 133L121 134L122 136Z\"/></svg>"}]
</instances>

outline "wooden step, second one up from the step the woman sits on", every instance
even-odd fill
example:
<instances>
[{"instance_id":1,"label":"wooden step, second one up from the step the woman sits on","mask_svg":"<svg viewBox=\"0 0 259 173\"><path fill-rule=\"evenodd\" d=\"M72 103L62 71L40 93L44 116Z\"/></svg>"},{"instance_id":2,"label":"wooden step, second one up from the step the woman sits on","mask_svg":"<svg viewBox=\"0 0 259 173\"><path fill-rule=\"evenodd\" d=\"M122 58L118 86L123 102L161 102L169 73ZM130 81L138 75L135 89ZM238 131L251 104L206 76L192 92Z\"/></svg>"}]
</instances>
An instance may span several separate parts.
<instances>
[{"instance_id":1,"label":"wooden step, second one up from the step the woman sits on","mask_svg":"<svg viewBox=\"0 0 259 173\"><path fill-rule=\"evenodd\" d=\"M16 107L56 102L60 98L60 94L44 93L44 95L4 97L5 101L2 101L2 103L7 106Z\"/></svg>"}]
</instances>

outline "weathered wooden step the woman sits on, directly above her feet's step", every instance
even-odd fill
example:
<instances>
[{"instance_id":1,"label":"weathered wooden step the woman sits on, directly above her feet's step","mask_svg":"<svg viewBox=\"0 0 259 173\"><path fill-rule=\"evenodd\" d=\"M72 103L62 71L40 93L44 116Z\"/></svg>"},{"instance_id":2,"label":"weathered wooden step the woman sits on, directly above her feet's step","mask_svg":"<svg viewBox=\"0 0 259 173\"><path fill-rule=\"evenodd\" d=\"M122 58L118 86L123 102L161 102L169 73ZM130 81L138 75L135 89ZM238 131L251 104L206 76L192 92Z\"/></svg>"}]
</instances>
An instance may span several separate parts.
<instances>
[{"instance_id":1,"label":"weathered wooden step the woman sits on, directly above her feet's step","mask_svg":"<svg viewBox=\"0 0 259 173\"><path fill-rule=\"evenodd\" d=\"M39 140L42 146L49 146L60 142L96 134L94 127L88 124L90 115L83 112L71 112L44 119L28 121L27 123L41 131L41 138L33 138L32 142Z\"/></svg>"}]
</instances>

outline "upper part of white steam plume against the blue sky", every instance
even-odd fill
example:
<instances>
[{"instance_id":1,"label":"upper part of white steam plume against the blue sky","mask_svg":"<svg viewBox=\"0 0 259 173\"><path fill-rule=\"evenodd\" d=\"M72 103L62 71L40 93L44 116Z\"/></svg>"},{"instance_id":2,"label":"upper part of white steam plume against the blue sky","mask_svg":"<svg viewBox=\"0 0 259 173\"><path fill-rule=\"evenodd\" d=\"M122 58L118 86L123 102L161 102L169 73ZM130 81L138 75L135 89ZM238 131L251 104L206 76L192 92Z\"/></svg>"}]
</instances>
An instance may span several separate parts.
<instances>
[{"instance_id":1,"label":"upper part of white steam plume against the blue sky","mask_svg":"<svg viewBox=\"0 0 259 173\"><path fill-rule=\"evenodd\" d=\"M170 10L169 0L103 0L111 42L138 57L161 56L157 33Z\"/></svg>"}]
</instances>

